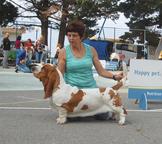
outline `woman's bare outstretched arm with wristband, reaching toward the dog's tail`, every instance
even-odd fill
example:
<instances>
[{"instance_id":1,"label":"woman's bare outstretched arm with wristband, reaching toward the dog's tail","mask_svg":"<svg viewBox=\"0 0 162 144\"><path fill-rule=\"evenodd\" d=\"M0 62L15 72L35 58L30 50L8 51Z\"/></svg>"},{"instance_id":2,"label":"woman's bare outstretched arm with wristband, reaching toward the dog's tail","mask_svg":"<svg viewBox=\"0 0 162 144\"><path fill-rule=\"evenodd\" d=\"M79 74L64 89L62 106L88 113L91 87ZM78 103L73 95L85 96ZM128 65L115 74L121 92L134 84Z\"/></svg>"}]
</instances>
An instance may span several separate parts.
<instances>
[{"instance_id":1,"label":"woman's bare outstretched arm with wristband, reaching toward the dog's tail","mask_svg":"<svg viewBox=\"0 0 162 144\"><path fill-rule=\"evenodd\" d=\"M123 75L122 74L116 74L114 75L112 72L109 72L105 70L101 64L101 62L98 59L98 54L94 48L92 48L92 55L93 55L93 64L97 70L97 73L105 78L111 78L114 80L121 80Z\"/></svg>"}]
</instances>

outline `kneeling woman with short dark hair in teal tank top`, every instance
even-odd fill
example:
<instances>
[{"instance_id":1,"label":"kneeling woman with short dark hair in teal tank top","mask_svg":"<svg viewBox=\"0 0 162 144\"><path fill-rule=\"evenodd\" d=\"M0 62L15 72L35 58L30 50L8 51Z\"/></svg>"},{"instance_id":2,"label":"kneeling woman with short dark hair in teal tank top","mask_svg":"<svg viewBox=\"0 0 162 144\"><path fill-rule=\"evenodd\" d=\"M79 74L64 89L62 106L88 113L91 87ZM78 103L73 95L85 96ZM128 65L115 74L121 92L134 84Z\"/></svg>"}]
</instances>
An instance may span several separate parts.
<instances>
[{"instance_id":1,"label":"kneeling woman with short dark hair in teal tank top","mask_svg":"<svg viewBox=\"0 0 162 144\"><path fill-rule=\"evenodd\" d=\"M82 42L85 25L81 21L72 21L66 27L69 45L59 51L58 68L64 75L65 82L78 88L96 88L92 66L105 78L121 80L122 73L113 74L106 71L99 61L96 50ZM97 119L107 119L108 113L99 114Z\"/></svg>"}]
</instances>

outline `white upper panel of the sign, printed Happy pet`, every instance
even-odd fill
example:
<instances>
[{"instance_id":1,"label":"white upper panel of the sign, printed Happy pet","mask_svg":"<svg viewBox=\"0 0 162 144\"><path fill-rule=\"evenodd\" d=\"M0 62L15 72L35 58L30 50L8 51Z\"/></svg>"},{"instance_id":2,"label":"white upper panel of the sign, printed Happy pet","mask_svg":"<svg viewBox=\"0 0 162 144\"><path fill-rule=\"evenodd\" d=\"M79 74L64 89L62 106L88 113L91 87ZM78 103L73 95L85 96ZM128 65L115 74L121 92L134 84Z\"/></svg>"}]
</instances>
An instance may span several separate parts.
<instances>
[{"instance_id":1,"label":"white upper panel of the sign, printed Happy pet","mask_svg":"<svg viewBox=\"0 0 162 144\"><path fill-rule=\"evenodd\" d=\"M162 61L132 59L128 80L130 87L162 89Z\"/></svg>"}]
</instances>

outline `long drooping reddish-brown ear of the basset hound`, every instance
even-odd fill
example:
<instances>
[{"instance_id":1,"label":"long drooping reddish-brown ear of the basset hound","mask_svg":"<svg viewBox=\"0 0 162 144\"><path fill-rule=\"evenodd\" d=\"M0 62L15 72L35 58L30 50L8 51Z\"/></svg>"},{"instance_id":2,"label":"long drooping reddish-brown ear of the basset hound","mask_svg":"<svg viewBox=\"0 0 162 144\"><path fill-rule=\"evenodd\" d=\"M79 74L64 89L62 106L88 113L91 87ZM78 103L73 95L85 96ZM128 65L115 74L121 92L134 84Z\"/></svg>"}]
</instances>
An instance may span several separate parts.
<instances>
[{"instance_id":1,"label":"long drooping reddish-brown ear of the basset hound","mask_svg":"<svg viewBox=\"0 0 162 144\"><path fill-rule=\"evenodd\" d=\"M54 88L58 88L60 84L60 78L57 70L54 68L53 71L48 73L48 81L45 85L45 99L52 96Z\"/></svg>"}]
</instances>

